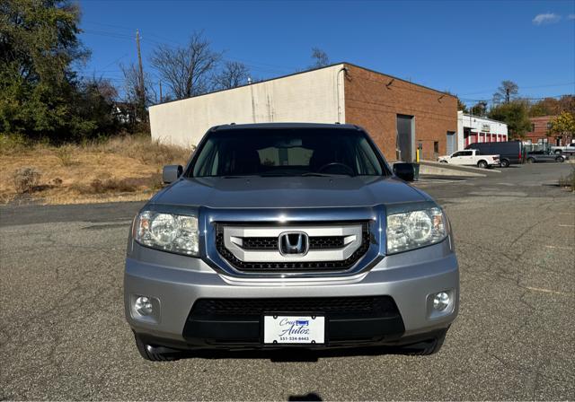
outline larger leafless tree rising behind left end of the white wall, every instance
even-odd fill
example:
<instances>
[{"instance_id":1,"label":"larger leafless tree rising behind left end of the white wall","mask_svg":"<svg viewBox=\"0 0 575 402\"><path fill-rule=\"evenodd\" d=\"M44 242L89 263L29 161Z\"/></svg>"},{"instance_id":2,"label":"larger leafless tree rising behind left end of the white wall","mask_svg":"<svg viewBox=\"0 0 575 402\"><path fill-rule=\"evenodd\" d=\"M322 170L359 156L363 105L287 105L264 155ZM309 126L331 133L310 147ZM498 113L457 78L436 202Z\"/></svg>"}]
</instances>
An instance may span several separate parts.
<instances>
[{"instance_id":1,"label":"larger leafless tree rising behind left end of the white wall","mask_svg":"<svg viewBox=\"0 0 575 402\"><path fill-rule=\"evenodd\" d=\"M202 32L194 32L184 47L155 48L150 62L170 87L173 98L185 99L208 92L210 77L221 58Z\"/></svg>"}]
</instances>

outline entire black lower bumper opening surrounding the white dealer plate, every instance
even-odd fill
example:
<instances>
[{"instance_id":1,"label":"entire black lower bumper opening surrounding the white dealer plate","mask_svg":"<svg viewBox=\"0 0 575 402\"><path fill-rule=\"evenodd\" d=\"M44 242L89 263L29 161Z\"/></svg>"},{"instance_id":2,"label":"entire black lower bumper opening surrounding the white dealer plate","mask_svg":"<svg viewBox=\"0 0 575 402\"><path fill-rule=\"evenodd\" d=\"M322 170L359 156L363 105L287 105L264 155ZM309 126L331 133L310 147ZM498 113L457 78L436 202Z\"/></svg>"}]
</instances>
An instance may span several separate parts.
<instances>
[{"instance_id":1,"label":"entire black lower bumper opening surrounding the white dealer plate","mask_svg":"<svg viewBox=\"0 0 575 402\"><path fill-rule=\"evenodd\" d=\"M391 296L284 297L199 299L191 307L182 336L190 345L265 347L265 314L323 315L327 345L396 339L405 331Z\"/></svg>"}]
</instances>

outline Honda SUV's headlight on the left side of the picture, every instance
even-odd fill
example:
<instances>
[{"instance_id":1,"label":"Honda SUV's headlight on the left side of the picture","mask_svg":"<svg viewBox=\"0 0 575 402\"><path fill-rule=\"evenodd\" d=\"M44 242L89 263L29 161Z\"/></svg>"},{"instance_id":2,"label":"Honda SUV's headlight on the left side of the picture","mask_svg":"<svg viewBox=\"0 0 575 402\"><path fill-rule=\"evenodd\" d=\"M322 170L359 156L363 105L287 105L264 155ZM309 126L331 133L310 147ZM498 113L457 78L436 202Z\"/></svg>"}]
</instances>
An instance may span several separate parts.
<instances>
[{"instance_id":1,"label":"Honda SUV's headlight on the left side of the picture","mask_svg":"<svg viewBox=\"0 0 575 402\"><path fill-rule=\"evenodd\" d=\"M134 222L134 239L147 247L197 256L198 217L144 211Z\"/></svg>"}]
</instances>

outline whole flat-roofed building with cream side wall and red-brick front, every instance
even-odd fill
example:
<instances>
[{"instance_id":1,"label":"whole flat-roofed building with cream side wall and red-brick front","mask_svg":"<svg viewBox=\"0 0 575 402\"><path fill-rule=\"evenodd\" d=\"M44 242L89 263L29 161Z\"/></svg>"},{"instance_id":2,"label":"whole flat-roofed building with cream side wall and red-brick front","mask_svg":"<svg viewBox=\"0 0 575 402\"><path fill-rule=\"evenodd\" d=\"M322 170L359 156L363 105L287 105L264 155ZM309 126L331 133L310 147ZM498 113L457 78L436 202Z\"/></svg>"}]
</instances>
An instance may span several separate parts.
<instances>
[{"instance_id":1,"label":"whole flat-roofed building with cream side wall and red-brick front","mask_svg":"<svg viewBox=\"0 0 575 402\"><path fill-rule=\"evenodd\" d=\"M197 144L209 127L234 122L348 123L365 127L389 161L435 160L457 144L456 97L341 63L150 108L152 137Z\"/></svg>"}]
</instances>

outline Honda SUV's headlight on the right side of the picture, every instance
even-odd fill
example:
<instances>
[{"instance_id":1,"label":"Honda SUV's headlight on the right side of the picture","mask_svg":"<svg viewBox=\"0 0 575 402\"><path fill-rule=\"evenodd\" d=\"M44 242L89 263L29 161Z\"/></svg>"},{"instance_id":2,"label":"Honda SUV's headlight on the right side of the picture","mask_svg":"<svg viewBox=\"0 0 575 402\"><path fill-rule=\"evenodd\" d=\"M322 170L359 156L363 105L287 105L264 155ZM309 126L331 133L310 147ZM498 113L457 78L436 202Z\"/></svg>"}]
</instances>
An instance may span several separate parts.
<instances>
[{"instance_id":1,"label":"Honda SUV's headlight on the right side of the picture","mask_svg":"<svg viewBox=\"0 0 575 402\"><path fill-rule=\"evenodd\" d=\"M440 208L387 215L387 253L438 243L447 236L447 218Z\"/></svg>"}]
</instances>

